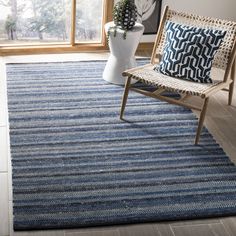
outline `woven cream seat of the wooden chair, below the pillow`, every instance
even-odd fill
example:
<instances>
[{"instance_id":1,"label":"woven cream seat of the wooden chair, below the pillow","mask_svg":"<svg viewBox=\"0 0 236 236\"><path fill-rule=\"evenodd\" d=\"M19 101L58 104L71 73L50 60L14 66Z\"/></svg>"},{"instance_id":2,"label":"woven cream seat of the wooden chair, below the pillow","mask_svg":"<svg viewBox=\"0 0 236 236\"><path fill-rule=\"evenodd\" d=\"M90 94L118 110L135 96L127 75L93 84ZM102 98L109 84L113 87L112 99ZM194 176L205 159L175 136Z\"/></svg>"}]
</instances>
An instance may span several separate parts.
<instances>
[{"instance_id":1,"label":"woven cream seat of the wooden chair, below the pillow","mask_svg":"<svg viewBox=\"0 0 236 236\"><path fill-rule=\"evenodd\" d=\"M189 80L177 79L162 73L157 73L153 68L154 66L152 64L148 64L127 70L123 72L123 75L131 76L133 79L148 85L163 88L167 91L196 95L202 98L206 96L209 90L223 83L222 76L224 75L224 71L220 69L213 70L214 77L218 79L213 79L212 83L194 83Z\"/></svg>"}]
</instances>

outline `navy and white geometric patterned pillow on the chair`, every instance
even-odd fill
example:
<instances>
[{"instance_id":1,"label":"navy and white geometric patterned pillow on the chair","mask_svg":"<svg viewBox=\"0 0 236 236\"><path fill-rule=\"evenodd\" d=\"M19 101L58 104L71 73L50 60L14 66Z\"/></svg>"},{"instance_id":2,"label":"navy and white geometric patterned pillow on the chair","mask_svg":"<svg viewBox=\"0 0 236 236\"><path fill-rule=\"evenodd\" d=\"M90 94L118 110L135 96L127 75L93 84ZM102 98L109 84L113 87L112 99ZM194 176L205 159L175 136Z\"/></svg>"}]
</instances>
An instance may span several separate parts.
<instances>
[{"instance_id":1,"label":"navy and white geometric patterned pillow on the chair","mask_svg":"<svg viewBox=\"0 0 236 236\"><path fill-rule=\"evenodd\" d=\"M226 31L166 23L166 42L160 64L165 75L194 82L212 83L211 66Z\"/></svg>"}]
</instances>

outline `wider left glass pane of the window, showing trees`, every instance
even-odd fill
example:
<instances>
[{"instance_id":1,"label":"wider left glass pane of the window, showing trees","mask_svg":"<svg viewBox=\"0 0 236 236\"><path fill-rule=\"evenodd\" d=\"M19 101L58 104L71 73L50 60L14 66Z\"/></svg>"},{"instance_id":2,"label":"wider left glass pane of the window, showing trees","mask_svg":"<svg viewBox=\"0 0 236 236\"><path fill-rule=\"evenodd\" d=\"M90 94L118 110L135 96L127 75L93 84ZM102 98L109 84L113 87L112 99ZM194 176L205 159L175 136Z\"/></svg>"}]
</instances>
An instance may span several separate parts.
<instances>
[{"instance_id":1,"label":"wider left glass pane of the window, showing trees","mask_svg":"<svg viewBox=\"0 0 236 236\"><path fill-rule=\"evenodd\" d=\"M70 40L71 0L0 1L0 43Z\"/></svg>"}]
</instances>

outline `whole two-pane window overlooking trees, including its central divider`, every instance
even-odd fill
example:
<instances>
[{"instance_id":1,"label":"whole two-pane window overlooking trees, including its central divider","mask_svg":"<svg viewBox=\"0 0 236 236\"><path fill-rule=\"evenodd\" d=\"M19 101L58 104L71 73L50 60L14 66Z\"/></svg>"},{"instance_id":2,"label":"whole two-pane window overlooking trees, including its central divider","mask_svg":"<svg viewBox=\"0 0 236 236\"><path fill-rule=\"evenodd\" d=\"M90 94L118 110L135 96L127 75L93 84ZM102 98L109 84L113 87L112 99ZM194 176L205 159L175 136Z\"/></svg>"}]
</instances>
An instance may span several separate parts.
<instances>
[{"instance_id":1,"label":"whole two-pane window overlooking trees, including its central divider","mask_svg":"<svg viewBox=\"0 0 236 236\"><path fill-rule=\"evenodd\" d=\"M102 44L110 1L0 0L0 53L11 46Z\"/></svg>"}]
</instances>

